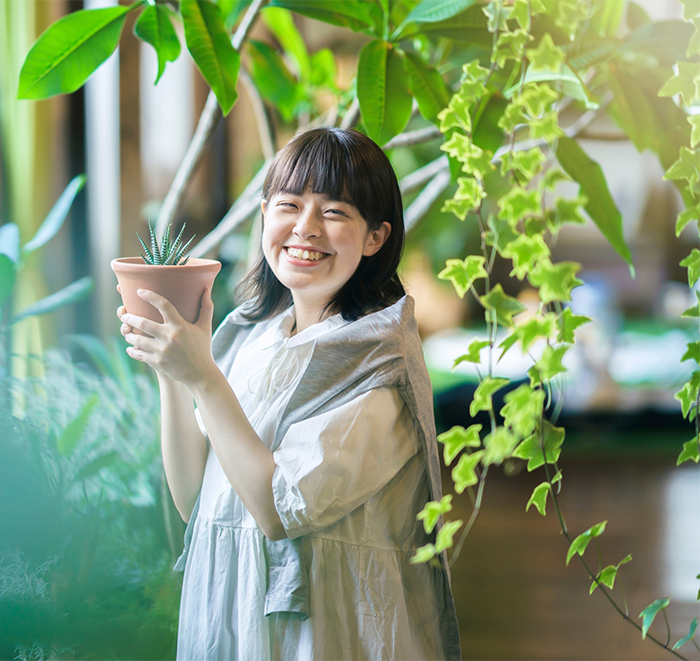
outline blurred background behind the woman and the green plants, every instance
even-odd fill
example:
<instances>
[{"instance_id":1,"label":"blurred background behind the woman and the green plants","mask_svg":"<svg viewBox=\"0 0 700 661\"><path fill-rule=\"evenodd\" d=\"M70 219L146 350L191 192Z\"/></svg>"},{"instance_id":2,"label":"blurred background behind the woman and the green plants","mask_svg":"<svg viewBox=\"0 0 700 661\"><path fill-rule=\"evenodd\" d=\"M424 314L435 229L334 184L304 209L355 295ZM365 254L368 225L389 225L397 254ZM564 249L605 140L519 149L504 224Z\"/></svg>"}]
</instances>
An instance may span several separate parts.
<instances>
[{"instance_id":1,"label":"blurred background behind the woman and the green plants","mask_svg":"<svg viewBox=\"0 0 700 661\"><path fill-rule=\"evenodd\" d=\"M124 353L109 262L138 254L136 232L143 236L158 215L209 88L184 48L154 86L156 55L129 34L128 18L117 52L84 88L15 100L19 70L38 35L69 12L109 4L0 0L0 224L16 223L24 244L74 177L84 173L87 182L60 231L26 258L12 305L22 310L92 279L88 296L19 321L4 343L18 386L4 401L0 438L0 661L174 658L179 577L171 567L184 526L162 478L157 386ZM673 0L638 4L655 21L682 16ZM316 61L325 62L327 84L286 115L283 103L239 80L240 98L217 124L175 218L198 239L229 213L271 150L319 118L328 121L350 98L367 37L300 16L294 23L310 54L332 53L330 64ZM251 37L279 45L264 21ZM255 67L262 65L255 53L246 57L259 84L265 74ZM426 126L415 115L409 129ZM399 178L440 156L435 137L390 150ZM583 264L585 284L573 291L571 307L594 319L566 356L562 508L576 533L608 520L603 562L633 554L619 579L631 619L655 598L673 595L668 616L678 637L698 613L700 588L700 470L675 467L694 429L673 395L690 376L680 359L697 335L697 321L680 316L696 299L678 262L700 241L692 228L676 238L680 195L662 180L658 158L639 153L605 113L579 142L601 164L622 213L636 278L592 222L562 229L552 260ZM479 309L436 277L446 259L480 249L476 224L440 211L453 193L443 188L411 228L401 271L416 299L439 431L470 422L477 375L452 363L485 332ZM415 198L407 193L406 207ZM257 255L259 215L249 213L208 253L223 264L216 322L234 307L235 285ZM496 262L497 273L499 266L504 289L536 309L527 281L509 278L505 261ZM517 384L529 365L512 351L494 372ZM525 512L536 481L522 468L512 460L494 471L453 567L464 658L669 656L643 643L599 590L589 596L579 566L565 566L567 545L553 513ZM455 503L458 516L468 518L466 494ZM656 627L665 640L663 622Z\"/></svg>"}]
</instances>

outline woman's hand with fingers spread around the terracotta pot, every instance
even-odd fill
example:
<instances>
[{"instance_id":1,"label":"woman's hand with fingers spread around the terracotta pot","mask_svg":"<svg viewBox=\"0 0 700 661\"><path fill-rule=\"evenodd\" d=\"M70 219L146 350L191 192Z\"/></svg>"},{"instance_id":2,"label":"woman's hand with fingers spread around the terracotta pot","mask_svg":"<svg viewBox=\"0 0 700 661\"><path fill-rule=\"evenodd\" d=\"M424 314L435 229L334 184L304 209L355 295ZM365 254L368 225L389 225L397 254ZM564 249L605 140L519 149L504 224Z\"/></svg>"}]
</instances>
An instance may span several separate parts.
<instances>
[{"instance_id":1,"label":"woman's hand with fingers spread around the terracotta pot","mask_svg":"<svg viewBox=\"0 0 700 661\"><path fill-rule=\"evenodd\" d=\"M199 318L193 324L185 321L163 296L146 289L139 289L138 295L157 308L165 321L161 324L119 308L117 316L123 324L122 335L133 345L126 350L132 358L189 388L202 383L218 370L211 355L214 313L211 289L204 291ZM134 329L147 335L138 335Z\"/></svg>"}]
</instances>

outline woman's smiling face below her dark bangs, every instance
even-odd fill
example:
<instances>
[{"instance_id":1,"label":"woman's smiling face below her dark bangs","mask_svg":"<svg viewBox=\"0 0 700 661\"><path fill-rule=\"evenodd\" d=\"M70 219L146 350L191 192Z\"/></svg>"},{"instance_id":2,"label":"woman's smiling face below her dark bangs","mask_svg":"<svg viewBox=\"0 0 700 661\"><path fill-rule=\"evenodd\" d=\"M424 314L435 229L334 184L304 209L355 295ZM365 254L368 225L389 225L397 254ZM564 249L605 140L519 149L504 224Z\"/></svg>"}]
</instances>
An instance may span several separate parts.
<instances>
[{"instance_id":1,"label":"woman's smiling face below her dark bangs","mask_svg":"<svg viewBox=\"0 0 700 661\"><path fill-rule=\"evenodd\" d=\"M297 310L318 313L343 287L363 256L374 255L391 232L370 231L348 201L312 193L280 192L262 203L263 253Z\"/></svg>"}]
</instances>

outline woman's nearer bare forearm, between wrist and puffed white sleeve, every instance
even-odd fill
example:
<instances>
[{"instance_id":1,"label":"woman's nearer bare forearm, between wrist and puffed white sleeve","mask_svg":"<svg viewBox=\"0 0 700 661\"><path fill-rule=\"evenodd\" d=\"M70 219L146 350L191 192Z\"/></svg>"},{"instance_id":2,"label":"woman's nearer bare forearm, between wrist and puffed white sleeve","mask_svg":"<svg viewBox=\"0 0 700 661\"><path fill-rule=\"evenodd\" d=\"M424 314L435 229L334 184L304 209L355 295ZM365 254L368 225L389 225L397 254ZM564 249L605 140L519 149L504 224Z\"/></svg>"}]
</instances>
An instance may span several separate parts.
<instances>
[{"instance_id":1,"label":"woman's nearer bare forearm, between wrist and puffed white sleeve","mask_svg":"<svg viewBox=\"0 0 700 661\"><path fill-rule=\"evenodd\" d=\"M272 495L272 452L248 422L226 377L217 369L211 378L192 386L192 395L233 490L268 539L284 539Z\"/></svg>"}]
</instances>

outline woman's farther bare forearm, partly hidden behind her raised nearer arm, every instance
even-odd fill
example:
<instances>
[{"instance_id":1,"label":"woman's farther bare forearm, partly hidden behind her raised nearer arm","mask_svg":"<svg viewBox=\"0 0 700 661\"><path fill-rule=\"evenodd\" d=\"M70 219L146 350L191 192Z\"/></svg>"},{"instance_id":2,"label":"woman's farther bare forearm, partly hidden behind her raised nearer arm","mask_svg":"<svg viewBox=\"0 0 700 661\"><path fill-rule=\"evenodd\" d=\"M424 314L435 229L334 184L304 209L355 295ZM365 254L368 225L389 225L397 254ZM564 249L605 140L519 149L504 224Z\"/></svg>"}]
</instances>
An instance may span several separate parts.
<instances>
[{"instance_id":1,"label":"woman's farther bare forearm, partly hidden behind her raised nearer arm","mask_svg":"<svg viewBox=\"0 0 700 661\"><path fill-rule=\"evenodd\" d=\"M207 462L207 439L197 424L190 391L181 383L160 373L158 383L165 477L175 507L187 522L202 487Z\"/></svg>"}]
</instances>

